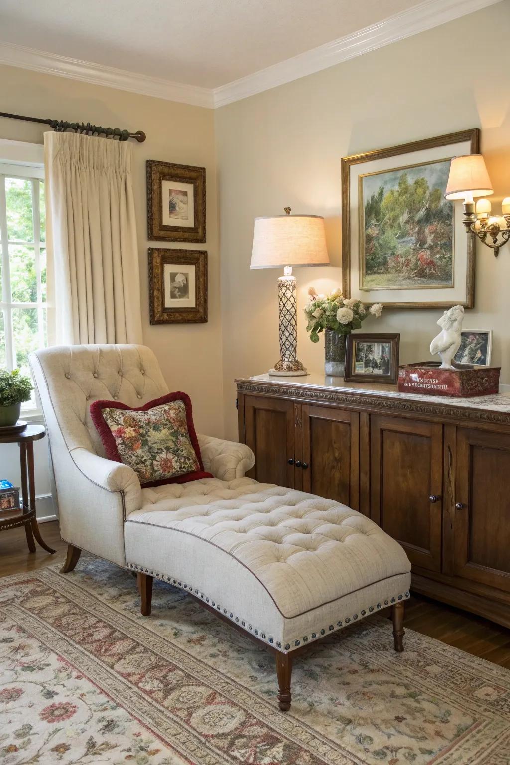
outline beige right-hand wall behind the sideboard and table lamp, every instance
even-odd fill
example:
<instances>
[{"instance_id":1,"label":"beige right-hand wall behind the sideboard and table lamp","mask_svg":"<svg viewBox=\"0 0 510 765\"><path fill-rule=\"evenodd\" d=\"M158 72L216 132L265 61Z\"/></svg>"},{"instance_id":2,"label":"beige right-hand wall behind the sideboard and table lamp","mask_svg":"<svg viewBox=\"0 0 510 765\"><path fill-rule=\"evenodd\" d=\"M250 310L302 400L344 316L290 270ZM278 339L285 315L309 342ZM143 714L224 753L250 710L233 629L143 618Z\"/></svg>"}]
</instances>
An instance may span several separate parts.
<instances>
[{"instance_id":1,"label":"beige right-hand wall behind the sideboard and table lamp","mask_svg":"<svg viewBox=\"0 0 510 765\"><path fill-rule=\"evenodd\" d=\"M490 29L491 34L485 31ZM461 18L336 67L216 110L222 257L226 434L236 436L236 376L278 359L276 270L249 272L253 218L326 217L329 269L296 269L307 289L341 284L340 158L480 127L495 206L510 194L510 2ZM485 30L485 31L483 31ZM492 363L510 382L510 246L499 259L476 253L476 297L465 327L493 328ZM386 310L365 331L401 333L401 361L430 358L438 311ZM299 357L323 368L323 340L310 343L299 315Z\"/></svg>"}]
</instances>

